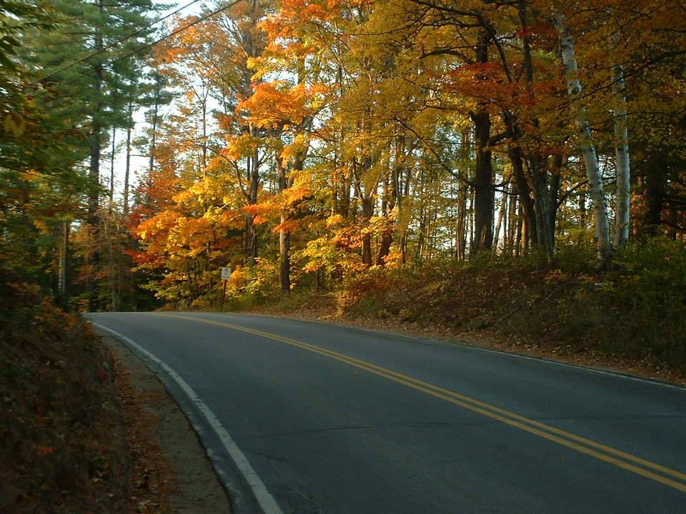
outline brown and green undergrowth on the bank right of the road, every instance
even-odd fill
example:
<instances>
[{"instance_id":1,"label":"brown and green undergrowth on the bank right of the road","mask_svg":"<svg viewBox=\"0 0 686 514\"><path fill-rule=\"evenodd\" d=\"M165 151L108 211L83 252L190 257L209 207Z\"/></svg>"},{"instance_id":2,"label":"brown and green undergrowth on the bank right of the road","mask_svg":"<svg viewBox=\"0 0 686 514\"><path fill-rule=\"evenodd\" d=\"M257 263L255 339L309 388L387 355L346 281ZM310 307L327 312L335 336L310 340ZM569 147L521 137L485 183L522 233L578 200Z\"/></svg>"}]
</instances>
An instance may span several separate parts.
<instances>
[{"instance_id":1,"label":"brown and green undergrowth on the bank right of the road","mask_svg":"<svg viewBox=\"0 0 686 514\"><path fill-rule=\"evenodd\" d=\"M654 238L615 255L612 271L590 263L592 248L482 253L469 261L370 268L327 294L299 293L269 311L387 320L457 332L517 336L567 353L593 351L686 374L686 248ZM304 307L303 307L304 306Z\"/></svg>"}]
</instances>

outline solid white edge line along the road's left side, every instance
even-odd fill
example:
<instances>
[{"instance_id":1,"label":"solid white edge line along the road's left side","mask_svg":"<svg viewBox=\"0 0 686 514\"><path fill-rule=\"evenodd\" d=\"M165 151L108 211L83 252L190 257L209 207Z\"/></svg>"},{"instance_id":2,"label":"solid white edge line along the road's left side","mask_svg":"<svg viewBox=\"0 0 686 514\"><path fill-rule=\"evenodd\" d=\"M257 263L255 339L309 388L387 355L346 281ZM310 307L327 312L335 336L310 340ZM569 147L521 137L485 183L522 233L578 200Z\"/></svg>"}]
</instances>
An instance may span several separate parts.
<instances>
[{"instance_id":1,"label":"solid white edge line along the road's left side","mask_svg":"<svg viewBox=\"0 0 686 514\"><path fill-rule=\"evenodd\" d=\"M126 343L136 348L136 351L143 353L147 358L156 363L157 366L166 371L166 373L168 373L169 376L171 376L174 379L174 381L179 385L179 387L182 388L184 393L186 393L189 400L191 400L192 403L198 408L198 410L200 410L202 415L204 415L205 419L207 420L207 423L209 423L209 425L212 427L214 432L219 437L219 440L222 441L224 448L226 448L227 452L234 460L234 463L236 464L237 468L242 473L246 482L252 489L252 492L254 493L255 498L257 499L257 503L259 503L259 506L264 511L264 514L283 514L283 511L281 510L281 508L279 508L277 501L274 500L272 494L269 493L269 490L267 490L267 486L264 485L262 479L259 478L259 475L257 475L257 471L254 470L248 458L238 447L238 445L234 443L234 440L232 439L231 435L229 435L229 433L227 432L227 429L224 428L224 426L222 426L222 423L219 421L217 416L214 415L212 410L210 410L210 408L200 399L200 397L193 390L193 388L190 385L188 385L188 383L184 381L184 379L181 376L179 376L179 374L176 371L167 366L163 361L161 361L159 358L157 358L152 353L147 351L145 348L139 346L138 343L131 341L131 339L127 338L126 336L122 336L119 332L113 331L111 328L107 328L106 326L102 326L100 323L94 323L93 321L91 321L91 323L94 326L101 328L102 330L114 334L114 336L121 339L122 341L126 341Z\"/></svg>"}]
</instances>

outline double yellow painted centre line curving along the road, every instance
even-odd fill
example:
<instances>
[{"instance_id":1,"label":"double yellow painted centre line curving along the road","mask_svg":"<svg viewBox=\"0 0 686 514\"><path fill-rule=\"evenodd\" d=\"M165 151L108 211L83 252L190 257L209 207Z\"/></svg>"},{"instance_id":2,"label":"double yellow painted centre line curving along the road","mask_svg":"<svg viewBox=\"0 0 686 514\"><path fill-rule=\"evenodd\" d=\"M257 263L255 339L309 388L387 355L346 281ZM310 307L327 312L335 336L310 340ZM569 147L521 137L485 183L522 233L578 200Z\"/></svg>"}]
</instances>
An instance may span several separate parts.
<instances>
[{"instance_id":1,"label":"double yellow painted centre line curving along the road","mask_svg":"<svg viewBox=\"0 0 686 514\"><path fill-rule=\"evenodd\" d=\"M213 320L207 320L204 318L195 318L194 316L179 316L176 314L157 314L158 316L168 316L169 318L179 318L179 319L187 319L187 320L192 320L192 321L199 321L202 323L209 323L212 325L218 325L218 326L223 326L226 328L232 328L237 331L242 331L242 332L247 332L251 333L255 336L261 336L264 338L269 338L274 341L279 341L282 343L287 343L291 346L297 346L298 348L302 348L304 350L313 352L313 353L319 353L319 355L332 358L335 361L340 361L342 363L346 363L349 366L354 366L355 368L362 369L364 371L368 371L369 373L374 373L374 375L381 376L383 378L387 378L390 381L394 381L397 383L401 383L403 385L407 385L409 388L413 388L415 390L422 391L422 393L427 393L429 395L434 396L435 398L440 398L442 400L445 400L449 403L453 403L454 405L459 405L462 408L466 408L468 410L472 410L472 412L482 414L484 416L487 416L488 418L492 418L494 420L501 421L502 423L506 423L507 425L514 426L516 428L520 428L520 430L525 430L529 433L533 433L535 435L539 435L542 438L545 438L547 440L552 440L555 443L558 443L560 445L566 446L567 448L572 448L572 450L577 450L580 453L585 453L586 455L590 455L592 457L595 457L597 459L603 460L607 463L616 465L619 468L629 470L632 473L637 473L638 475L642 475L646 478L650 478L651 480L655 480L657 482L660 482L665 485L669 485L672 488L675 488L677 490L682 491L683 493L686 493L686 484L685 483L680 483L677 482L676 480L672 480L671 478L667 478L662 475L657 475L657 473L653 473L650 470L639 468L637 465L642 465L645 468L650 468L655 471L659 471L660 473L663 473L665 475L669 475L672 478L676 478L677 480L686 480L686 473L680 473L677 470L672 470L670 468L666 468L665 466L662 466L660 464L652 463L650 460L645 460L640 457L637 457L635 455L631 455L630 453L625 453L622 452L621 450L617 450L615 448L611 448L610 446L603 445L601 443L597 443L593 440L587 439L587 438L582 438L579 435L575 435L569 432L565 432L565 430L560 430L559 428L552 427L550 425L546 425L545 423L540 423L540 421L532 420L530 418L525 418L522 415L518 415L516 413L512 413L509 410L504 410L502 408L498 408L494 405L489 405L488 403L484 403L482 401L476 400L474 398L469 398L469 396L461 395L459 393L455 393L454 391L447 390L444 388L441 388L437 385L433 385L427 382L423 382L420 380L417 380L417 378L412 378L406 375L403 375L402 373L397 373L397 371L392 371L387 368L383 368L382 366L377 366L376 364L369 363L367 361L362 361L362 359L354 358L351 356L347 356L344 353L339 353L336 351L332 350L327 350L325 348L320 348L319 346L314 346L309 343L304 343L303 341L298 341L297 339L291 339L291 338L285 338L282 336L277 336L276 334L268 333L268 332L262 332L258 330L254 330L253 328L246 328L238 325L232 325L231 323L224 323L223 321L213 321ZM545 430L545 431L544 431ZM575 442L576 441L576 442ZM581 444L579 444L581 443ZM585 445L585 446L584 446ZM587 448L587 447L591 448ZM593 448L596 448L595 450ZM601 453L600 451L597 450L602 450L605 453ZM606 455L606 453L609 453L610 455ZM615 456L612 456L615 455ZM628 460L630 462L625 462L624 460L620 460L615 457L620 457L625 460ZM632 464L633 463L633 464Z\"/></svg>"}]
</instances>

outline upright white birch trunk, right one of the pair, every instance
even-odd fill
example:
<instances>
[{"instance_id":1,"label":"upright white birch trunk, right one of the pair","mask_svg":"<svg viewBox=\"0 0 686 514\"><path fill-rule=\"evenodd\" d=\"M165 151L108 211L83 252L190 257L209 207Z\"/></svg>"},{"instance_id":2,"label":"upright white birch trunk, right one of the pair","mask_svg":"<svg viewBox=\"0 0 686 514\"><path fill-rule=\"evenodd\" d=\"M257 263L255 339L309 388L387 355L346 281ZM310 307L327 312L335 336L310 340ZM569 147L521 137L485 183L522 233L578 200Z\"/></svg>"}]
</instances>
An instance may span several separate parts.
<instances>
[{"instance_id":1,"label":"upright white birch trunk, right one of the pair","mask_svg":"<svg viewBox=\"0 0 686 514\"><path fill-rule=\"evenodd\" d=\"M629 132L627 129L627 99L625 96L624 68L612 69L615 83L615 167L617 168L617 191L615 193L615 248L629 241L630 207L630 160Z\"/></svg>"}]
</instances>

